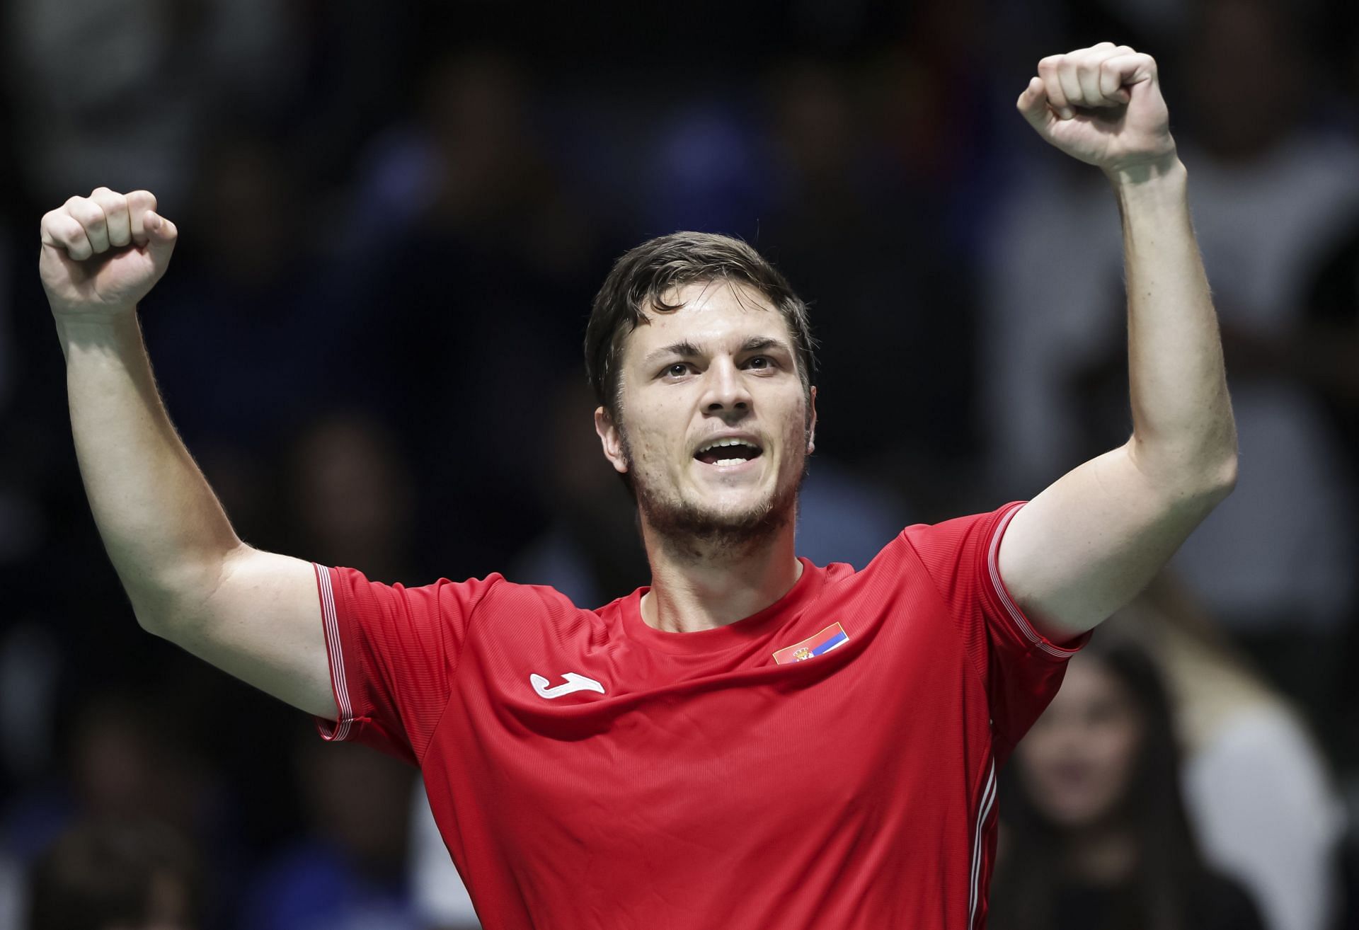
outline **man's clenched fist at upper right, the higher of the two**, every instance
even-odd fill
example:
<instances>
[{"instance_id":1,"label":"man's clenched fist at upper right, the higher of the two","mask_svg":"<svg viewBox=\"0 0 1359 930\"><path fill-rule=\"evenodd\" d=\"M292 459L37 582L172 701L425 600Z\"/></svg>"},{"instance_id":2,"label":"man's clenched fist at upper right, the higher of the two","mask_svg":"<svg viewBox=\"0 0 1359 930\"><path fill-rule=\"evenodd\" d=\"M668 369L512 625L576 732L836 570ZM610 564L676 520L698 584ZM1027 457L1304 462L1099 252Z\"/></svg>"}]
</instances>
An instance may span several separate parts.
<instances>
[{"instance_id":1,"label":"man's clenched fist at upper right, the higher of the two","mask_svg":"<svg viewBox=\"0 0 1359 930\"><path fill-rule=\"evenodd\" d=\"M1048 56L1015 106L1040 136L1109 175L1176 159L1157 63L1127 45Z\"/></svg>"}]
</instances>

